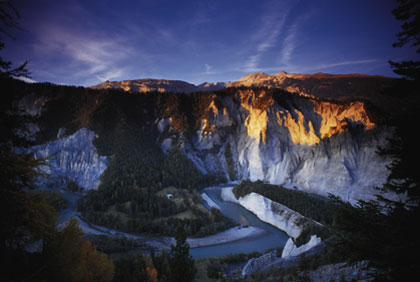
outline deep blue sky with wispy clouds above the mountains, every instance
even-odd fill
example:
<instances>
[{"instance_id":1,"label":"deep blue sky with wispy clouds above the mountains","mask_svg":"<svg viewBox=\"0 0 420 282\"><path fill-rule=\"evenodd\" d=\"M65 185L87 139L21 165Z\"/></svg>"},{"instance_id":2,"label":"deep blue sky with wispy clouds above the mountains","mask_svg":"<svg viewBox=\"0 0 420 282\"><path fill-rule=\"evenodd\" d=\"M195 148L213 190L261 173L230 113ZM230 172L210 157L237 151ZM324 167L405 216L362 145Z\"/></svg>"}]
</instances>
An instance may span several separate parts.
<instances>
[{"instance_id":1,"label":"deep blue sky with wispy clouds above the mountains","mask_svg":"<svg viewBox=\"0 0 420 282\"><path fill-rule=\"evenodd\" d=\"M166 78L194 84L253 72L394 76L394 0L16 0L22 31L1 56L35 81L94 85Z\"/></svg>"}]
</instances>

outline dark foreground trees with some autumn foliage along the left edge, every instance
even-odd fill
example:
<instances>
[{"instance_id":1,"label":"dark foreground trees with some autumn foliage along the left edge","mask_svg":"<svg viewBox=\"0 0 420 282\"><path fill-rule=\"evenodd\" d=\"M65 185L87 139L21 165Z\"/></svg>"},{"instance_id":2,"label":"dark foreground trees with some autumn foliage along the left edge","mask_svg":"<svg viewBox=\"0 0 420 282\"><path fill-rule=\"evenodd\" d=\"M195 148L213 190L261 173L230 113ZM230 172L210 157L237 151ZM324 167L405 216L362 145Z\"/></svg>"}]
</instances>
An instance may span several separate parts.
<instances>
[{"instance_id":1,"label":"dark foreground trees with some autumn foliage along the left edge","mask_svg":"<svg viewBox=\"0 0 420 282\"><path fill-rule=\"evenodd\" d=\"M0 3L0 33L17 27L18 13L10 2ZM0 39L0 50L4 43ZM0 57L0 86L12 76L27 75L26 63L16 68ZM4 90L4 89L1 89ZM1 91L0 90L0 91ZM82 240L77 221L57 229L61 202L32 193L42 176L36 160L25 153L31 117L15 106L21 96L2 91L0 104L0 273L2 281L111 281L114 265ZM57 204L53 207L51 204Z\"/></svg>"}]
</instances>

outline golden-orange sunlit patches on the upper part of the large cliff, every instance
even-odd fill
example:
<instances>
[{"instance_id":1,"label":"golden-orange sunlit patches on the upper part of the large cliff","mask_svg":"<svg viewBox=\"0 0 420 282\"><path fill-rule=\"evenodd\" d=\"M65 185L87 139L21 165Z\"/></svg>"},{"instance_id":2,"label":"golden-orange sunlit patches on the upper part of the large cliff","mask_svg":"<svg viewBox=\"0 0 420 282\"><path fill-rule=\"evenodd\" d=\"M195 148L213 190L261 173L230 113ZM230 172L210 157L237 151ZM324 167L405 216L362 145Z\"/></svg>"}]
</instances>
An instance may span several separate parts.
<instances>
[{"instance_id":1,"label":"golden-orange sunlit patches on the upper part of the large cliff","mask_svg":"<svg viewBox=\"0 0 420 282\"><path fill-rule=\"evenodd\" d=\"M309 99L309 103L297 100L290 108L283 108L274 102L272 92L266 90L238 90L235 94L245 112L243 123L247 135L265 143L269 119L287 129L294 144L315 145L324 138L346 132L354 125L365 130L375 127L363 102L334 103ZM201 117L201 135L212 135L217 128L216 120L228 116L226 107L216 106L215 96L205 105L206 114ZM272 116L274 115L274 116ZM219 116L219 118L217 118ZM276 129L275 129L276 130Z\"/></svg>"}]
</instances>

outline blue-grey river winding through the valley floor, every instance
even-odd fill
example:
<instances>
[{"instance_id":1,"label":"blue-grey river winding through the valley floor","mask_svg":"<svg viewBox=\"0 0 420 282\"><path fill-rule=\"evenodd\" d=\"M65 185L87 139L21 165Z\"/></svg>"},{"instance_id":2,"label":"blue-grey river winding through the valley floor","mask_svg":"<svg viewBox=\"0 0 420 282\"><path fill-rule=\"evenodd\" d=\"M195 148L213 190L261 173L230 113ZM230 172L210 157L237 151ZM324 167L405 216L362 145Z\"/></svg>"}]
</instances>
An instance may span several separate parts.
<instances>
[{"instance_id":1,"label":"blue-grey river winding through the valley floor","mask_svg":"<svg viewBox=\"0 0 420 282\"><path fill-rule=\"evenodd\" d=\"M242 206L232 202L225 202L221 199L220 194L222 189L228 187L232 186L220 185L209 187L202 190L201 193L206 193L206 195L220 207L221 213L226 217L231 218L241 225L253 226L262 229L264 230L264 233L224 244L191 248L190 254L192 257L202 258L224 256L235 253L251 253L254 251L262 253L270 248L283 247L289 238L286 233L270 224L262 222L258 219L258 217ZM61 211L59 215L59 223L63 223L70 219L71 216L77 215L76 202L81 195L68 191L60 191L60 193L69 202L69 206L65 210ZM118 234L123 233L118 232ZM132 237L135 236L136 235L133 235Z\"/></svg>"}]
</instances>

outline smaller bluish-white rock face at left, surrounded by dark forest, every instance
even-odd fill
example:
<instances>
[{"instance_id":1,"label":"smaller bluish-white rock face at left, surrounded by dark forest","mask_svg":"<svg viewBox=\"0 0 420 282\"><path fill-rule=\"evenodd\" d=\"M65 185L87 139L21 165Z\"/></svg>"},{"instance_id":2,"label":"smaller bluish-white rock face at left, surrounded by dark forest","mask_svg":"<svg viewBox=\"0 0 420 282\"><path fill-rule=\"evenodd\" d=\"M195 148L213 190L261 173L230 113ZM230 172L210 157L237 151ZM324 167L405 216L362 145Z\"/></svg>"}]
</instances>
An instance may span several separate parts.
<instances>
[{"instance_id":1,"label":"smaller bluish-white rock face at left, surrounded by dark forest","mask_svg":"<svg viewBox=\"0 0 420 282\"><path fill-rule=\"evenodd\" d=\"M95 189L105 171L107 158L99 156L92 140L95 133L82 128L71 136L59 138L30 149L36 158L45 158L49 166L43 171L53 177L54 185L65 185L67 179L84 189Z\"/></svg>"}]
</instances>

